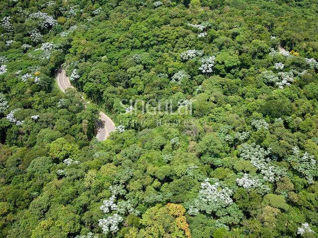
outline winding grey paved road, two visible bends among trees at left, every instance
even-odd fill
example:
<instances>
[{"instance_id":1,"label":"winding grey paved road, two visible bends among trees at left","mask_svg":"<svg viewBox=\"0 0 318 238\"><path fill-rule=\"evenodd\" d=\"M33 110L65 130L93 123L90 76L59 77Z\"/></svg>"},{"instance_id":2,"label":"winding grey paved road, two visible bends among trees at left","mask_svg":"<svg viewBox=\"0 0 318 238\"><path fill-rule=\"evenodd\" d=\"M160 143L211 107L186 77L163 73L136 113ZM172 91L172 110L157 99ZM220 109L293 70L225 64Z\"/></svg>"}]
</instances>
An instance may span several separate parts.
<instances>
[{"instance_id":1,"label":"winding grey paved road, two visible bends among trees at left","mask_svg":"<svg viewBox=\"0 0 318 238\"><path fill-rule=\"evenodd\" d=\"M66 76L64 69L60 69L56 75L56 81L62 92L68 88L73 88L69 78ZM109 133L115 130L114 122L104 113L99 112L99 120L96 120L97 124L97 135L98 141L106 140Z\"/></svg>"}]
</instances>

